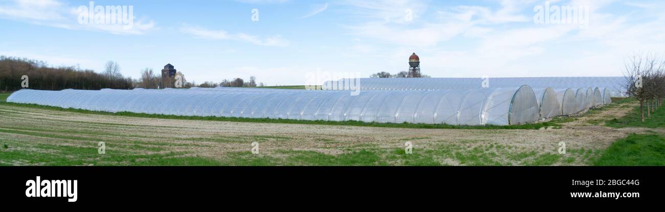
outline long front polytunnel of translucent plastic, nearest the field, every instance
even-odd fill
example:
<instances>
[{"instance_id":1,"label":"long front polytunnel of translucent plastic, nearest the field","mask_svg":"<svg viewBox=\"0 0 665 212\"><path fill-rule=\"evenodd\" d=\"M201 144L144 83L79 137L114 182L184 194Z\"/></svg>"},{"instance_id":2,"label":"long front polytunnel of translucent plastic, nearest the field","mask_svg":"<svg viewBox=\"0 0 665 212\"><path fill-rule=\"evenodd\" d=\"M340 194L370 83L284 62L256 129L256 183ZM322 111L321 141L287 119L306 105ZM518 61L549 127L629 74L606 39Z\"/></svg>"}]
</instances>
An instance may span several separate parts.
<instances>
[{"instance_id":1,"label":"long front polytunnel of translucent plastic, nearest the field","mask_svg":"<svg viewBox=\"0 0 665 212\"><path fill-rule=\"evenodd\" d=\"M509 125L535 122L529 86L471 90L281 90L194 88L19 90L7 102L106 112L178 116L358 120L362 122Z\"/></svg>"}]
</instances>

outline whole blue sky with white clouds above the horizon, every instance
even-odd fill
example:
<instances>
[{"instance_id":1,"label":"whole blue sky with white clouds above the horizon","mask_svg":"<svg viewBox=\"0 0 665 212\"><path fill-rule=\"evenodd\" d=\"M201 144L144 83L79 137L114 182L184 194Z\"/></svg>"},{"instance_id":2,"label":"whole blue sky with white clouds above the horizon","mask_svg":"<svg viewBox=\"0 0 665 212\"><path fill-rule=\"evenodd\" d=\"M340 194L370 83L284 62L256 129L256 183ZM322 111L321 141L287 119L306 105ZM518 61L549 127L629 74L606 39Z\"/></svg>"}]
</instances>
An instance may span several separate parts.
<instances>
[{"instance_id":1,"label":"whole blue sky with white clouds above the horizon","mask_svg":"<svg viewBox=\"0 0 665 212\"><path fill-rule=\"evenodd\" d=\"M660 0L92 2L125 6L117 23L90 4L0 0L0 55L97 72L113 60L132 78L170 63L189 82L299 85L312 73L407 70L412 53L432 77L519 77L622 76L630 54L665 51Z\"/></svg>"}]
</instances>

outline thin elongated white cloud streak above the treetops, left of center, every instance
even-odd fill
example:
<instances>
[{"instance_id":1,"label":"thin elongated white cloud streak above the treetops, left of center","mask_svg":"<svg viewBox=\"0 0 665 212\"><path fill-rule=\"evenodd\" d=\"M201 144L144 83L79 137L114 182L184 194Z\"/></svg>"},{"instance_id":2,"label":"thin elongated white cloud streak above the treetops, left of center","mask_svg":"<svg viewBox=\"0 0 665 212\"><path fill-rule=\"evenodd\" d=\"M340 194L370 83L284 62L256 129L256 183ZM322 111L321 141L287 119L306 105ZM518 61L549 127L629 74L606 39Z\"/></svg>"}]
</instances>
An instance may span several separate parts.
<instances>
[{"instance_id":1,"label":"thin elongated white cloud streak above the treetops, left of center","mask_svg":"<svg viewBox=\"0 0 665 212\"><path fill-rule=\"evenodd\" d=\"M193 35L199 39L208 39L208 40L227 40L227 41L243 41L247 43L252 43L254 45L261 45L266 47L287 47L289 46L289 41L285 41L279 35L273 37L259 37L255 35L248 35L245 33L228 33L224 30L211 30L204 29L201 27L192 27L189 25L184 25L180 27L182 33L187 33Z\"/></svg>"}]
</instances>

